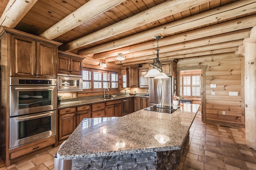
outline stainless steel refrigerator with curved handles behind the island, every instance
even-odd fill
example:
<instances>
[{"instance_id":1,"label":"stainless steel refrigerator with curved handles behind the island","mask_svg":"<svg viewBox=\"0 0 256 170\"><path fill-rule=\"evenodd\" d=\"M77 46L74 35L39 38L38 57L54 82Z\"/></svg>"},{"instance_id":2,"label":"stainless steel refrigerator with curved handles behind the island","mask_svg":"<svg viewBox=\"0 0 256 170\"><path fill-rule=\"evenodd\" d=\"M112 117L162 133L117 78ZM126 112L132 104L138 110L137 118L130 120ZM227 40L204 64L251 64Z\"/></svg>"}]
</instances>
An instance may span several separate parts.
<instances>
[{"instance_id":1,"label":"stainless steel refrigerator with curved handles behind the island","mask_svg":"<svg viewBox=\"0 0 256 170\"><path fill-rule=\"evenodd\" d=\"M150 78L149 83L149 102L150 105L172 104L172 76L169 79L154 79Z\"/></svg>"}]
</instances>

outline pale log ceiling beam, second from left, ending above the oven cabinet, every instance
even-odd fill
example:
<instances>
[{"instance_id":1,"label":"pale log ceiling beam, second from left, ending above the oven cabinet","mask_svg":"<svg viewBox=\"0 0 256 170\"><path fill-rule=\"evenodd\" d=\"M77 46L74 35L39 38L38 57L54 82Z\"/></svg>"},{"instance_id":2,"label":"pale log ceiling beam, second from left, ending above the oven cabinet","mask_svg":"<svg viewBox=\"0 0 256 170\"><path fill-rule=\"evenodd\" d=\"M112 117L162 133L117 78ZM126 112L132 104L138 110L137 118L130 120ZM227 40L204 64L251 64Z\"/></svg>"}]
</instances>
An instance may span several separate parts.
<instances>
[{"instance_id":1,"label":"pale log ceiling beam, second from left, ending above the oven cabinet","mask_svg":"<svg viewBox=\"0 0 256 170\"><path fill-rule=\"evenodd\" d=\"M40 36L48 40L53 40L124 1L125 0L90 0L60 22L48 28L48 30L44 31Z\"/></svg>"}]
</instances>

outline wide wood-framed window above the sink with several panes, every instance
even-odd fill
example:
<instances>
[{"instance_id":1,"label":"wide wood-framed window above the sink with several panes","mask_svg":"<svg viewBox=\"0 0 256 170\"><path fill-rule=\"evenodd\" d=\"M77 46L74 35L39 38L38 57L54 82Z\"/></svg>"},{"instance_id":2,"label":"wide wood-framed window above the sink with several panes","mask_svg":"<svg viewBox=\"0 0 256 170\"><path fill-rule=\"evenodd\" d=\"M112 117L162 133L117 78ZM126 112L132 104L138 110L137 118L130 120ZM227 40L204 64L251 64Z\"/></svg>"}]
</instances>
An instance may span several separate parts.
<instances>
[{"instance_id":1,"label":"wide wood-framed window above the sink with several panes","mask_svg":"<svg viewBox=\"0 0 256 170\"><path fill-rule=\"evenodd\" d=\"M118 72L83 69L83 91L118 90Z\"/></svg>"}]
</instances>

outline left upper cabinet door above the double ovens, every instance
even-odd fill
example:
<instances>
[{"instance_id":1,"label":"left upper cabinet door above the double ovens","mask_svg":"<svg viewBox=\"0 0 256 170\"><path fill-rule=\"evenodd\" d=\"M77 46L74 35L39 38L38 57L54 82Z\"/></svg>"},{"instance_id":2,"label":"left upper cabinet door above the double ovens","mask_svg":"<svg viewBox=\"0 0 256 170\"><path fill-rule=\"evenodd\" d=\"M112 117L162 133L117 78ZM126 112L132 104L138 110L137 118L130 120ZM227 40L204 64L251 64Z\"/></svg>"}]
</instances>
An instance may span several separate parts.
<instances>
[{"instance_id":1,"label":"left upper cabinet door above the double ovens","mask_svg":"<svg viewBox=\"0 0 256 170\"><path fill-rule=\"evenodd\" d=\"M36 77L36 41L11 35L11 76Z\"/></svg>"}]
</instances>

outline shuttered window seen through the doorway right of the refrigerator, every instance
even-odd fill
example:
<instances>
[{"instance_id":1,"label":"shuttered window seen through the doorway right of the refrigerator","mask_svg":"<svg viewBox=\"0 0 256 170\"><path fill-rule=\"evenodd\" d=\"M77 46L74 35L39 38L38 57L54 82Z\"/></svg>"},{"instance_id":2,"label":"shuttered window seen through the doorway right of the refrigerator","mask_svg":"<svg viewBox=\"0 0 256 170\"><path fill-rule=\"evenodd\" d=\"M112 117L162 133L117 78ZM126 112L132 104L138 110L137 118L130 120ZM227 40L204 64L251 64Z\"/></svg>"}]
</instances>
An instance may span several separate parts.
<instances>
[{"instance_id":1,"label":"shuttered window seen through the doorway right of the refrigerator","mask_svg":"<svg viewBox=\"0 0 256 170\"><path fill-rule=\"evenodd\" d=\"M180 71L180 95L183 97L201 96L201 70Z\"/></svg>"}]
</instances>

